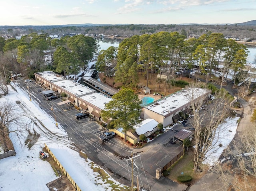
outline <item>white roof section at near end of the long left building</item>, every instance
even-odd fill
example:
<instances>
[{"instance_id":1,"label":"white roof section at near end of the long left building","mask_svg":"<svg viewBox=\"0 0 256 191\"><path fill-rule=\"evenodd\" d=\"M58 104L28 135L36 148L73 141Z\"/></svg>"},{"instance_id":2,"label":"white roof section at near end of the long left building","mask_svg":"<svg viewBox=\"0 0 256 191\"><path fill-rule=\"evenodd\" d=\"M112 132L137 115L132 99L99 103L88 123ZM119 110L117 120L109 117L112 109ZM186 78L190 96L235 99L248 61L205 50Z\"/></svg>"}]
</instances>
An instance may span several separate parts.
<instances>
[{"instance_id":1,"label":"white roof section at near end of the long left building","mask_svg":"<svg viewBox=\"0 0 256 191\"><path fill-rule=\"evenodd\" d=\"M110 102L110 100L112 100L111 98L107 97L102 93L92 93L89 95L81 96L80 98L83 100L86 100L87 102L95 105L96 107L102 110L104 110L105 104Z\"/></svg>"}]
</instances>

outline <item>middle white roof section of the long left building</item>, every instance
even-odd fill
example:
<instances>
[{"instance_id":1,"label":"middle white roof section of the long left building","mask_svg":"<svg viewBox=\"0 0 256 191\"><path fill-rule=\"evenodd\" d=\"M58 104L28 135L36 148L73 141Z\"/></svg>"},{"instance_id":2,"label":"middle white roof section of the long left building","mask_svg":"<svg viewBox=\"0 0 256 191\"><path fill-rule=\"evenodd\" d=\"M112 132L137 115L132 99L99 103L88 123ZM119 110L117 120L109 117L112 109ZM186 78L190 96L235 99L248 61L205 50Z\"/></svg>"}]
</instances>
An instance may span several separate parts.
<instances>
[{"instance_id":1,"label":"middle white roof section of the long left building","mask_svg":"<svg viewBox=\"0 0 256 191\"><path fill-rule=\"evenodd\" d=\"M58 85L59 87L62 87L63 89L69 91L70 93L80 96L88 93L94 93L95 91L90 89L87 86L84 86L80 83L77 83L72 80L62 80L62 81L56 81L52 82L55 85Z\"/></svg>"}]
</instances>

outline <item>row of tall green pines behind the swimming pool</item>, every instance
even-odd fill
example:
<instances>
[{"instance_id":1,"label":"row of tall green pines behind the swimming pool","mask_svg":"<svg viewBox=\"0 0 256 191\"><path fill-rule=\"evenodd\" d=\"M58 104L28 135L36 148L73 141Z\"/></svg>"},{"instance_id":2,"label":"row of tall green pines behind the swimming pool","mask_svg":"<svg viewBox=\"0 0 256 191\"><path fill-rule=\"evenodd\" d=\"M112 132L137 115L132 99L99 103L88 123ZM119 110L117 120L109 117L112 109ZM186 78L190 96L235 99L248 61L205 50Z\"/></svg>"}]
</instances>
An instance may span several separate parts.
<instances>
[{"instance_id":1,"label":"row of tall green pines behind the swimming pool","mask_svg":"<svg viewBox=\"0 0 256 191\"><path fill-rule=\"evenodd\" d=\"M99 53L96 69L107 77L114 76L116 82L124 87L138 86L138 75L144 74L146 86L153 80L154 73L167 76L166 85L174 85L180 67L196 69L195 78L206 75L206 83L213 70L222 61L222 83L224 77L234 70L236 73L244 68L248 50L245 45L234 39L225 39L222 33L204 34L197 38L186 39L178 32L159 32L152 35L134 35L124 39L118 49L109 47ZM221 86L222 86L221 83Z\"/></svg>"}]
</instances>

